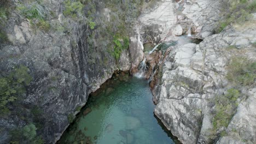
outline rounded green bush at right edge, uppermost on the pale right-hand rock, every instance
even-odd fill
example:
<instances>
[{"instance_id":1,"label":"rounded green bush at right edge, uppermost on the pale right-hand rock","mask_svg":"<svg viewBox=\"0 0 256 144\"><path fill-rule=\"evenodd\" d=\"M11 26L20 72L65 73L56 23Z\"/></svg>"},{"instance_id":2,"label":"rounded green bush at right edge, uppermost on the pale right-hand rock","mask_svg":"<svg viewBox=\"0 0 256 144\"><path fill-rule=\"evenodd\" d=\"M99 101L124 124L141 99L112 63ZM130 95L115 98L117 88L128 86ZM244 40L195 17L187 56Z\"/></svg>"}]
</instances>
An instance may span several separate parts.
<instances>
[{"instance_id":1,"label":"rounded green bush at right edge, uppermost on the pale right-hand rock","mask_svg":"<svg viewBox=\"0 0 256 144\"><path fill-rule=\"evenodd\" d=\"M256 62L245 57L232 57L226 78L236 86L251 86L256 80Z\"/></svg>"}]
</instances>

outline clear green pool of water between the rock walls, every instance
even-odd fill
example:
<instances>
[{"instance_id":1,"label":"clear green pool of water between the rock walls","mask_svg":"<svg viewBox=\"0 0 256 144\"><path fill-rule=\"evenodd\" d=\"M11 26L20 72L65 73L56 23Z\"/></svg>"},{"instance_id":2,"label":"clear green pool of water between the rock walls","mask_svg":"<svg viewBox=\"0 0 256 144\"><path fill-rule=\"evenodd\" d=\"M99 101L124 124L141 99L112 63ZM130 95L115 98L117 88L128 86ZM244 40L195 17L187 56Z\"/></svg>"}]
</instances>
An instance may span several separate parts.
<instances>
[{"instance_id":1,"label":"clear green pool of water between the rock walls","mask_svg":"<svg viewBox=\"0 0 256 144\"><path fill-rule=\"evenodd\" d=\"M146 80L130 77L126 82L109 81L91 95L58 143L174 143L154 116L152 98ZM92 111L84 116L88 107Z\"/></svg>"}]
</instances>

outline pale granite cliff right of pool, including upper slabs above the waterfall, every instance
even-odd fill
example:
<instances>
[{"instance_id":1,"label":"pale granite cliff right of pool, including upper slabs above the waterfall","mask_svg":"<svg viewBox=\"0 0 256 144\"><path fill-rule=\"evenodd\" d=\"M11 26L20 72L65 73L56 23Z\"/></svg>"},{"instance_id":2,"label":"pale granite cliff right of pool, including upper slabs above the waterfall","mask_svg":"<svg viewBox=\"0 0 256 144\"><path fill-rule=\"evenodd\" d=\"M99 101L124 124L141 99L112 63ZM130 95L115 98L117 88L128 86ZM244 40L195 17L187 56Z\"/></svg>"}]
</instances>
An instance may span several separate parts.
<instances>
[{"instance_id":1,"label":"pale granite cliff right of pool, including upper slabs above the waterfall","mask_svg":"<svg viewBox=\"0 0 256 144\"><path fill-rule=\"evenodd\" d=\"M221 18L221 4L164 1L140 18L144 23L160 21L155 34L162 42L176 41L176 35L189 31L195 34L192 37L203 39L200 44L168 47L154 79L158 81L154 81L157 84L153 89L155 115L182 143L255 143L255 16L213 34ZM168 13L164 12L166 7ZM161 16L154 19L155 13ZM169 25L161 25L161 20ZM251 72L234 72L247 69L248 63ZM241 77L249 73L254 76L247 85Z\"/></svg>"}]
</instances>

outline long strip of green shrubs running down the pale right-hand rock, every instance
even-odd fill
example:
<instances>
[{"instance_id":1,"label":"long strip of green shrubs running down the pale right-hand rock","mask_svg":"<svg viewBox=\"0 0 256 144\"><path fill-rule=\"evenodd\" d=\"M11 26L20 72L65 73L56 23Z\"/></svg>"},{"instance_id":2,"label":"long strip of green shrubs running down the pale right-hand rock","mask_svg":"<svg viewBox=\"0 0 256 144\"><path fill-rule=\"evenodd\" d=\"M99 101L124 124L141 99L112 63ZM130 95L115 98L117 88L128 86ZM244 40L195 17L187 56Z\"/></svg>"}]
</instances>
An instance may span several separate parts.
<instances>
[{"instance_id":1,"label":"long strip of green shrubs running down the pale right-hand rock","mask_svg":"<svg viewBox=\"0 0 256 144\"><path fill-rule=\"evenodd\" d=\"M235 47L231 46L230 49ZM214 140L218 136L225 136L225 128L228 127L231 118L234 116L238 103L237 99L243 99L239 91L241 88L252 86L256 80L256 62L249 61L246 57L232 57L228 64L226 78L231 82L230 88L224 95L219 95L214 99L216 104L214 117L212 119L213 128L210 130L210 139ZM232 131L236 131L232 129ZM217 134L218 133L218 134Z\"/></svg>"}]
</instances>

